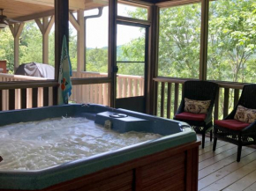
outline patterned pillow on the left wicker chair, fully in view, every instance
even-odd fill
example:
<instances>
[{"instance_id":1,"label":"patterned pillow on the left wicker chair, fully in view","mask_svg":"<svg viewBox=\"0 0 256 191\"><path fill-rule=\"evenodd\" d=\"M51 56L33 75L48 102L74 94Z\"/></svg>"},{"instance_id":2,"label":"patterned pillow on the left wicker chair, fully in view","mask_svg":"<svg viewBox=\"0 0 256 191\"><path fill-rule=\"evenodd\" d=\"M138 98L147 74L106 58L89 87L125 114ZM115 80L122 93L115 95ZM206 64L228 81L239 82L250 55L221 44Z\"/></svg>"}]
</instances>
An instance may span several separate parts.
<instances>
[{"instance_id":1,"label":"patterned pillow on the left wicker chair, fully in view","mask_svg":"<svg viewBox=\"0 0 256 191\"><path fill-rule=\"evenodd\" d=\"M192 114L207 114L211 100L193 100L184 98L184 111Z\"/></svg>"}]
</instances>

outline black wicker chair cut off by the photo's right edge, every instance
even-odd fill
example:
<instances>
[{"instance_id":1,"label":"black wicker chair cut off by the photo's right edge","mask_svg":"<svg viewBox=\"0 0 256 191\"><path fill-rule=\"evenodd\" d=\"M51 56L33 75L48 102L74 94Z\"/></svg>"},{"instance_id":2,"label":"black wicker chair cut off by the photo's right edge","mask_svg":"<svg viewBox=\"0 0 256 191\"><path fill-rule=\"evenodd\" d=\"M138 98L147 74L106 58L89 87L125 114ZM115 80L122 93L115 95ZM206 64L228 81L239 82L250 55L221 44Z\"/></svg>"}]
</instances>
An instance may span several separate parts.
<instances>
[{"instance_id":1,"label":"black wicker chair cut off by the photo's right edge","mask_svg":"<svg viewBox=\"0 0 256 191\"><path fill-rule=\"evenodd\" d=\"M242 95L237 106L256 109L256 84L247 84L243 88ZM234 120L237 106L223 120L215 121L214 148L216 149L217 138L237 144L237 162L240 161L242 146L256 143L256 121L245 123Z\"/></svg>"}]
</instances>

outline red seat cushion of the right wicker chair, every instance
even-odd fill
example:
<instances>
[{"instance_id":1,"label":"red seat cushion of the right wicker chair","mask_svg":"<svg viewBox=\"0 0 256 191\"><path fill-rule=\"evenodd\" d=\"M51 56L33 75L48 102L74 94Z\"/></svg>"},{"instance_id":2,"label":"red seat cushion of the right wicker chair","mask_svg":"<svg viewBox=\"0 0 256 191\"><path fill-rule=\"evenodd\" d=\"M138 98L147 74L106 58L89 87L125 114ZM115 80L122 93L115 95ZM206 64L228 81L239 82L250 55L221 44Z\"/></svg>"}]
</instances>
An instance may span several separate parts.
<instances>
[{"instance_id":1,"label":"red seat cushion of the right wicker chair","mask_svg":"<svg viewBox=\"0 0 256 191\"><path fill-rule=\"evenodd\" d=\"M245 129L250 123L241 122L237 120L215 120L215 124L223 128L242 130Z\"/></svg>"}]
</instances>

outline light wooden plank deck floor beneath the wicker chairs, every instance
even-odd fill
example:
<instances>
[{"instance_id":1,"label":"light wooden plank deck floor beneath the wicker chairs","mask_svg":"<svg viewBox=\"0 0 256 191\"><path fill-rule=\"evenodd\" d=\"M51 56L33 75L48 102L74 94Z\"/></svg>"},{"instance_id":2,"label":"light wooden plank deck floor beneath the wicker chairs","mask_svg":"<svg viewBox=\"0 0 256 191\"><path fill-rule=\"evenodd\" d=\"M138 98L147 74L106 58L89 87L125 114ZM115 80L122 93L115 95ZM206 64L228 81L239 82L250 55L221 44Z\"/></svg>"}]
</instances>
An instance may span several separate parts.
<instances>
[{"instance_id":1,"label":"light wooden plank deck floor beneath the wicker chairs","mask_svg":"<svg viewBox=\"0 0 256 191\"><path fill-rule=\"evenodd\" d=\"M218 140L213 152L212 144L206 138L205 149L200 146L199 190L256 191L256 150L243 147L237 163L237 145Z\"/></svg>"}]
</instances>

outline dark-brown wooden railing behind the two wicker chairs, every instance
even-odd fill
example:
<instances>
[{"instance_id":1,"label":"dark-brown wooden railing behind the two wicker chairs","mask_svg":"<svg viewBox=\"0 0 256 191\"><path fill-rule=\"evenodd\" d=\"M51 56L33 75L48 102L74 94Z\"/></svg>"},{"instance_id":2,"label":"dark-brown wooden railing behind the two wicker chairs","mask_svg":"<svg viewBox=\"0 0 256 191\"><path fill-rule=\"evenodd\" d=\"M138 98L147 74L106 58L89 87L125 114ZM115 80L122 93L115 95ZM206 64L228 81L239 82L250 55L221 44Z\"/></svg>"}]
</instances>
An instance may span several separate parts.
<instances>
[{"instance_id":1,"label":"dark-brown wooden railing behind the two wicker chairs","mask_svg":"<svg viewBox=\"0 0 256 191\"><path fill-rule=\"evenodd\" d=\"M154 85L157 87L157 100L155 103L154 114L172 119L179 107L183 84L187 79L155 77ZM215 100L214 118L222 119L227 116L234 106L237 105L241 90L244 84L222 83L219 84L219 93Z\"/></svg>"}]
</instances>

